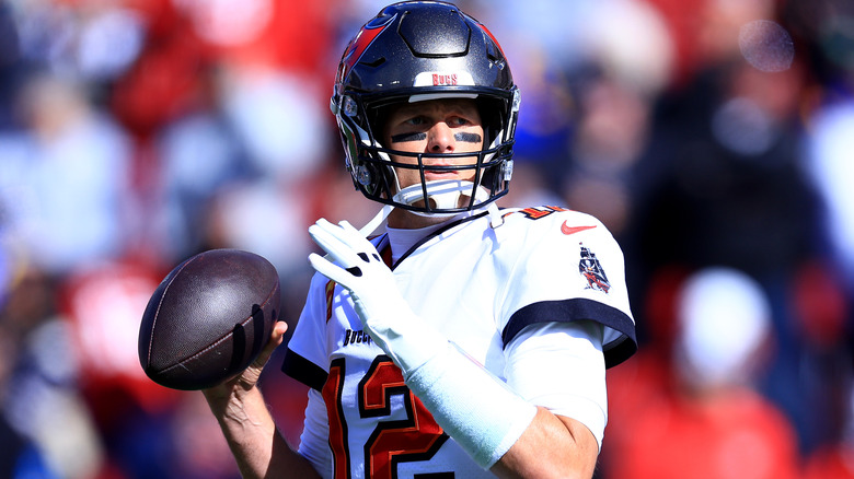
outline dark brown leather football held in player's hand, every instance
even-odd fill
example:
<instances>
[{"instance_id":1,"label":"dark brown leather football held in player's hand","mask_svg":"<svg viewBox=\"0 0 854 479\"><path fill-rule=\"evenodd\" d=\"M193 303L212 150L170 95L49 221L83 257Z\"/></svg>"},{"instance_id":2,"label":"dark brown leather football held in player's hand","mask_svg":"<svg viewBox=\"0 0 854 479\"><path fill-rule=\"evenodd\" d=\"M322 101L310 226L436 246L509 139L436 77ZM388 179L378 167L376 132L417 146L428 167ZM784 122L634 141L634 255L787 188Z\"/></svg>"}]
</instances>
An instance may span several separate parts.
<instances>
[{"instance_id":1,"label":"dark brown leather football held in player's hand","mask_svg":"<svg viewBox=\"0 0 854 479\"><path fill-rule=\"evenodd\" d=\"M269 339L279 288L276 268L253 253L211 249L186 259L163 279L142 314L142 370L182 390L236 376Z\"/></svg>"}]
</instances>

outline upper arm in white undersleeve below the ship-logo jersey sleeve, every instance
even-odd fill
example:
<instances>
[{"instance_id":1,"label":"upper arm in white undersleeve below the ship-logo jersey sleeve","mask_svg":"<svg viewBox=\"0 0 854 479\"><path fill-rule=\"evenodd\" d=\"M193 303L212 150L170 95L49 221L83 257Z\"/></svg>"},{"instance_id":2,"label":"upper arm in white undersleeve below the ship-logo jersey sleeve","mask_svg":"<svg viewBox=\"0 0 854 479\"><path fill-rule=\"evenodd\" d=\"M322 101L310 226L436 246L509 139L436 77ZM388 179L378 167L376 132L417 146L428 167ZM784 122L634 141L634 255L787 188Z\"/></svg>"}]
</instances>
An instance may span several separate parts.
<instances>
[{"instance_id":1,"label":"upper arm in white undersleeve below the ship-logo jersey sleeve","mask_svg":"<svg viewBox=\"0 0 854 479\"><path fill-rule=\"evenodd\" d=\"M540 408L493 472L587 478L593 474L608 421L603 335L602 326L591 320L540 323L507 344L507 385Z\"/></svg>"}]
</instances>

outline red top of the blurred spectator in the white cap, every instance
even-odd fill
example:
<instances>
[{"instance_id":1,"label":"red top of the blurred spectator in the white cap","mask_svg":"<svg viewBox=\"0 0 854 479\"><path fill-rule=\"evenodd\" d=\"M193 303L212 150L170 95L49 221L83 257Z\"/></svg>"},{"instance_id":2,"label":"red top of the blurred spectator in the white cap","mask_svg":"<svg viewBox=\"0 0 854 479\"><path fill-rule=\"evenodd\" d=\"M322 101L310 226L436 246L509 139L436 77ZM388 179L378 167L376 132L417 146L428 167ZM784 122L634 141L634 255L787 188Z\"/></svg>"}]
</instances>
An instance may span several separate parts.
<instances>
[{"instance_id":1,"label":"red top of the blurred spectator in the white cap","mask_svg":"<svg viewBox=\"0 0 854 479\"><path fill-rule=\"evenodd\" d=\"M787 420L755 393L649 405L625 427L632 437L608 464L621 479L796 479L797 441Z\"/></svg>"}]
</instances>

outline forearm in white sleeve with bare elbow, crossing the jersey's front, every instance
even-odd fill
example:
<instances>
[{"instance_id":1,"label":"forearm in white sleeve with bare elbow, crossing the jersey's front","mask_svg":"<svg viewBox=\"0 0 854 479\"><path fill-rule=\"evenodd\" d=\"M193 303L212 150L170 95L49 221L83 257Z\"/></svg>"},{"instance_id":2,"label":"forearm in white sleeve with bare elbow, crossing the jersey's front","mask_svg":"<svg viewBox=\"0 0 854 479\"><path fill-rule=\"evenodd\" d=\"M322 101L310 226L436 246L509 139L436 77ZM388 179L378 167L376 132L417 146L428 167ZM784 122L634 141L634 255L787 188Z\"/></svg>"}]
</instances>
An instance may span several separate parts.
<instances>
[{"instance_id":1,"label":"forearm in white sleeve with bare elbow, crossing the jersey's front","mask_svg":"<svg viewBox=\"0 0 854 479\"><path fill-rule=\"evenodd\" d=\"M535 408L455 348L438 353L405 377L446 432L493 472L535 478L592 476L598 444L585 425Z\"/></svg>"}]
</instances>

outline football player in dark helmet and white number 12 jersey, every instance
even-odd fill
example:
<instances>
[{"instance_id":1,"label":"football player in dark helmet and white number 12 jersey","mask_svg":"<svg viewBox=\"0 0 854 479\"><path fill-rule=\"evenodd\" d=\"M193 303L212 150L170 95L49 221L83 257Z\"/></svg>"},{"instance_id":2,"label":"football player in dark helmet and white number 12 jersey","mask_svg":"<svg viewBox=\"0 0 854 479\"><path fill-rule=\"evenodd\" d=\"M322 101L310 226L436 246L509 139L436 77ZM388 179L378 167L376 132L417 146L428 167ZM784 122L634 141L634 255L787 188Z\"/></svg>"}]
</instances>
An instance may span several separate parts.
<instances>
[{"instance_id":1,"label":"football player in dark helmet and white number 12 jersey","mask_svg":"<svg viewBox=\"0 0 854 479\"><path fill-rule=\"evenodd\" d=\"M519 104L498 43L452 4L389 5L349 43L331 106L382 207L309 229L327 255L282 365L310 386L299 447L255 384L284 323L205 392L244 476L592 476L605 369L636 349L623 256L590 215L496 206Z\"/></svg>"}]
</instances>

